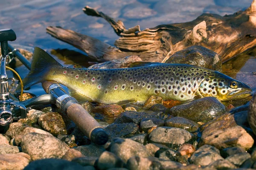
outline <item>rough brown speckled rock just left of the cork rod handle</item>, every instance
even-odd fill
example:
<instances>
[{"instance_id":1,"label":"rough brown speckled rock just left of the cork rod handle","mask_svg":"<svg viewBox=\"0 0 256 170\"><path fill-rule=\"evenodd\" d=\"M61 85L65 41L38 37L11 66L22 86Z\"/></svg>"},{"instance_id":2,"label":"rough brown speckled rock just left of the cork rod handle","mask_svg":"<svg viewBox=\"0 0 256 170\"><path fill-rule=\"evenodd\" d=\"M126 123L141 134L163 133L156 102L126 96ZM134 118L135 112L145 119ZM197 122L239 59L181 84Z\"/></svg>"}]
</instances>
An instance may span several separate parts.
<instances>
[{"instance_id":1,"label":"rough brown speckled rock just left of the cork rod handle","mask_svg":"<svg viewBox=\"0 0 256 170\"><path fill-rule=\"evenodd\" d=\"M70 134L76 127L67 115L57 112L42 114L38 119L38 124L54 136Z\"/></svg>"}]
</instances>

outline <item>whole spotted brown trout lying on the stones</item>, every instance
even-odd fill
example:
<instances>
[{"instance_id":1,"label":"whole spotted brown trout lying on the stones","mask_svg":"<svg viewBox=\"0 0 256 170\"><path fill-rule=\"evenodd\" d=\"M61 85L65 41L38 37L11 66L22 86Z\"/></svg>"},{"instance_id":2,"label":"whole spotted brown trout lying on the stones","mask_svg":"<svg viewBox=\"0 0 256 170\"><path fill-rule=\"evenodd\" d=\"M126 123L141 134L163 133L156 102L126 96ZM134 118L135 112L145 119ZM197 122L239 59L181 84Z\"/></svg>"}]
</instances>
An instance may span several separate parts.
<instances>
[{"instance_id":1,"label":"whole spotted brown trout lying on the stones","mask_svg":"<svg viewBox=\"0 0 256 170\"><path fill-rule=\"evenodd\" d=\"M68 68L36 47L31 71L23 84L28 88L53 80L67 86L71 96L79 101L105 104L144 103L152 95L179 101L214 96L225 101L252 94L248 85L194 65L155 62L136 62L135 65L137 67L119 69Z\"/></svg>"}]
</instances>

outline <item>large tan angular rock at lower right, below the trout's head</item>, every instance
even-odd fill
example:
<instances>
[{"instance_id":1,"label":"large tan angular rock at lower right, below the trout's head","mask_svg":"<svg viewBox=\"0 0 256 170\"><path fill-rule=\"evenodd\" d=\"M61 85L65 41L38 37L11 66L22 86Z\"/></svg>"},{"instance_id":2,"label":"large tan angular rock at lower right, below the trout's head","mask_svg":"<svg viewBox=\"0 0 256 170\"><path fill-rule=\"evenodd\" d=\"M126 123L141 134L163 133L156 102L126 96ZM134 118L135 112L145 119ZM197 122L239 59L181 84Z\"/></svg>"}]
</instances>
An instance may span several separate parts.
<instances>
[{"instance_id":1,"label":"large tan angular rock at lower right, below the trout's head","mask_svg":"<svg viewBox=\"0 0 256 170\"><path fill-rule=\"evenodd\" d=\"M242 147L245 150L253 146L252 136L242 127L247 124L246 112L227 113L217 119L204 128L199 146L210 144L218 149Z\"/></svg>"}]
</instances>

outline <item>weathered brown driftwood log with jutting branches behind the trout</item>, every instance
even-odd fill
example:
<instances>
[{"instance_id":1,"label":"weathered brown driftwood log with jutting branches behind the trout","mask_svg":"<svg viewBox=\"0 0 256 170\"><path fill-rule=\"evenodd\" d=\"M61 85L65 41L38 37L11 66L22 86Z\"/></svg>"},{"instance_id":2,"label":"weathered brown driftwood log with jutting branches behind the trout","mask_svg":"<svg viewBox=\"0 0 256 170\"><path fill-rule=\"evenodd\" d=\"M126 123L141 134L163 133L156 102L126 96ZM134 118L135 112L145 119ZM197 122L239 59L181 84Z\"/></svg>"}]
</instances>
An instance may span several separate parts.
<instances>
[{"instance_id":1,"label":"weathered brown driftwood log with jutting branches behind the trout","mask_svg":"<svg viewBox=\"0 0 256 170\"><path fill-rule=\"evenodd\" d=\"M218 53L224 62L256 45L256 0L247 10L232 15L202 14L191 22L160 25L143 31L140 31L140 26L125 29L122 21L116 22L88 6L83 11L90 16L102 17L111 24L120 36L114 44L116 48L60 27L47 27L47 33L99 61L137 55L143 61L165 62L177 51L202 45Z\"/></svg>"}]
</instances>

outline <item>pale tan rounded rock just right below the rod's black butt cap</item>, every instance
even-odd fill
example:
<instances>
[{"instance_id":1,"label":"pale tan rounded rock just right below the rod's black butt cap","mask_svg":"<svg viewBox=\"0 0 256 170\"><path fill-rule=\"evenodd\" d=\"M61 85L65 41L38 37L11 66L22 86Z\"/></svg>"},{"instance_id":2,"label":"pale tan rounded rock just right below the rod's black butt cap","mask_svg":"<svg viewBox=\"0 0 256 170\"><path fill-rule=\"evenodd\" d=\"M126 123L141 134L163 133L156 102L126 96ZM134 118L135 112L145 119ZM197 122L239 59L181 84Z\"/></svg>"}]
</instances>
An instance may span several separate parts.
<instances>
[{"instance_id":1,"label":"pale tan rounded rock just right below the rod's black butt cap","mask_svg":"<svg viewBox=\"0 0 256 170\"><path fill-rule=\"evenodd\" d=\"M148 150L142 144L131 139L115 138L111 142L110 151L118 156L125 163L132 156L147 157L150 156Z\"/></svg>"}]
</instances>

